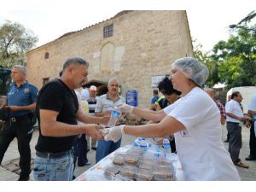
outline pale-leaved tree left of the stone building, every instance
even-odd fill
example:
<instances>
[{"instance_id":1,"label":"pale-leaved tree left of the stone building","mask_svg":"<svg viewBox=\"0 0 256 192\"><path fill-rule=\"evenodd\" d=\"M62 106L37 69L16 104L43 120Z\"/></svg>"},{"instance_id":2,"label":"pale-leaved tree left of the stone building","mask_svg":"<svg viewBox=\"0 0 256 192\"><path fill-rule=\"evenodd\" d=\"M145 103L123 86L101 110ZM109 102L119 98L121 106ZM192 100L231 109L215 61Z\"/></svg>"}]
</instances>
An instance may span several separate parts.
<instances>
[{"instance_id":1,"label":"pale-leaved tree left of the stone building","mask_svg":"<svg viewBox=\"0 0 256 192\"><path fill-rule=\"evenodd\" d=\"M0 66L26 65L26 52L32 49L38 38L19 23L6 20L0 26Z\"/></svg>"}]
</instances>

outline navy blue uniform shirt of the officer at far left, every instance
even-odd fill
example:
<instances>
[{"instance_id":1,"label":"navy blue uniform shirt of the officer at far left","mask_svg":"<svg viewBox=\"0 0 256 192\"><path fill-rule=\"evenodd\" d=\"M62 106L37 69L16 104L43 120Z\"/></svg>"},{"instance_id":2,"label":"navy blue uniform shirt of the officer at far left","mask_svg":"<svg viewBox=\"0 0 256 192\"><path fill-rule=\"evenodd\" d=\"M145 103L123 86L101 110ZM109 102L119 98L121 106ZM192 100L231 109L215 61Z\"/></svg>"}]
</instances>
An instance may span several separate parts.
<instances>
[{"instance_id":1,"label":"navy blue uniform shirt of the officer at far left","mask_svg":"<svg viewBox=\"0 0 256 192\"><path fill-rule=\"evenodd\" d=\"M21 84L20 87L17 87L17 84L15 82L12 83L7 93L8 106L27 106L34 102L37 102L37 99L38 88L28 82ZM10 116L20 117L25 116L28 113L31 113L31 110L10 112Z\"/></svg>"}]
</instances>

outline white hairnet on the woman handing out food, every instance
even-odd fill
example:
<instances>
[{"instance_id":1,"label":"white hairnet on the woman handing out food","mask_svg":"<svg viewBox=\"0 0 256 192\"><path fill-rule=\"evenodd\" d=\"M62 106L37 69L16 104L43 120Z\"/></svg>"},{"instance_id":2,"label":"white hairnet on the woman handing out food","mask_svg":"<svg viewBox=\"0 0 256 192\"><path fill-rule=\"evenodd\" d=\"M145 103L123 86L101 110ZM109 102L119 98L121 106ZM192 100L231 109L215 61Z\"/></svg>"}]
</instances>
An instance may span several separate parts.
<instances>
[{"instance_id":1,"label":"white hairnet on the woman handing out food","mask_svg":"<svg viewBox=\"0 0 256 192\"><path fill-rule=\"evenodd\" d=\"M192 57L183 57L172 63L172 67L176 67L178 71L184 73L188 79L195 84L202 86L206 83L209 71L208 68Z\"/></svg>"}]
</instances>

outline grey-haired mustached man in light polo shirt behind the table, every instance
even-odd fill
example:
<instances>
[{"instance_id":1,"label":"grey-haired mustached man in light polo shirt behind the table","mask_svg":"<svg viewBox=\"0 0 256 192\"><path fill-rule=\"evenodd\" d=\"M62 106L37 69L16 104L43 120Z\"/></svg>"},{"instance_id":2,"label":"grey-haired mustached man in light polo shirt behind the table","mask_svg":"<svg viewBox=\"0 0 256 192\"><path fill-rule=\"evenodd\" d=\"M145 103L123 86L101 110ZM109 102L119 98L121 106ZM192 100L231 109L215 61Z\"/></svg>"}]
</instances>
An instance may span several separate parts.
<instances>
[{"instance_id":1,"label":"grey-haired mustached man in light polo shirt behind the table","mask_svg":"<svg viewBox=\"0 0 256 192\"><path fill-rule=\"evenodd\" d=\"M119 96L119 80L116 78L109 79L108 81L108 93L99 96L96 104L95 114L96 116L103 116L105 113L109 113L109 110L125 103L125 99ZM121 119L119 119L119 125L122 124ZM120 147L121 138L117 143L112 141L98 141L98 146L96 148L96 163L108 154L111 154L114 150Z\"/></svg>"}]
</instances>

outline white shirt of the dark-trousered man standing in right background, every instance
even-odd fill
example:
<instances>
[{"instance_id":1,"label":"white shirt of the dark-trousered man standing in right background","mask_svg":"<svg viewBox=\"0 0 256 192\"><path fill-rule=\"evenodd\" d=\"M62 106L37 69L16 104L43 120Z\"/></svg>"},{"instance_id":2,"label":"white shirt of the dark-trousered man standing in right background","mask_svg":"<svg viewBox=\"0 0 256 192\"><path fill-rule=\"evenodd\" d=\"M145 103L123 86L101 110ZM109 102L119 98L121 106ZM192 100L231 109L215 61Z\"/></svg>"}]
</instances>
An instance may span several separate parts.
<instances>
[{"instance_id":1,"label":"white shirt of the dark-trousered man standing in right background","mask_svg":"<svg viewBox=\"0 0 256 192\"><path fill-rule=\"evenodd\" d=\"M225 106L225 110L226 110L226 113L232 113L238 117L243 117L243 113L242 113L239 102L236 102L233 99L231 99L229 104ZM227 122L240 123L238 119L231 118L228 114L227 114Z\"/></svg>"}]
</instances>

